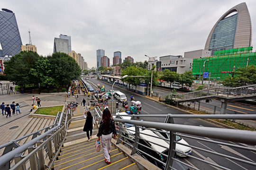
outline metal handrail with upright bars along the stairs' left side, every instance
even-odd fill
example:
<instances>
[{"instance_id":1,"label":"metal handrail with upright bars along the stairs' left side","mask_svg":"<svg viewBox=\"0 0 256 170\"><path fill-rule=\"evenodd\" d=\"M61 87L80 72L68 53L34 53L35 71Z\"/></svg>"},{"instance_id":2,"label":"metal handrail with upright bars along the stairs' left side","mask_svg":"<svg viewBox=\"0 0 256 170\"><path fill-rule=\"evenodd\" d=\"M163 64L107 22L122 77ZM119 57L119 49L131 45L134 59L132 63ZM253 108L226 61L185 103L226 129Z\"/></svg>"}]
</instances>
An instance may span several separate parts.
<instances>
[{"instance_id":1,"label":"metal handrail with upright bars along the stairs' left side","mask_svg":"<svg viewBox=\"0 0 256 170\"><path fill-rule=\"evenodd\" d=\"M28 160L31 161L31 156L34 154L37 154L37 153L38 153L37 159L41 160L42 162L39 161L39 164L36 165L37 160L32 159L32 164L30 164L30 166L38 166L38 167L40 166L40 169L42 169L42 167L44 167L43 169L45 169L45 167L47 165L44 164L45 159L46 159L43 154L44 148L47 149L46 153L49 157L47 160L50 160L50 162L48 162L48 163L50 164L50 167L51 167L51 165L53 164L53 161L58 156L57 153L60 151L60 148L64 142L64 138L66 136L67 127L68 127L67 125L71 121L71 118L72 118L71 110L67 110L67 113L58 112L57 116L55 117L55 121L54 121L53 125L45 127L43 129L38 130L29 135L23 136L19 139L8 142L7 144L1 145L1 146L5 146L5 147L11 147L11 149L8 153L3 153L3 155L0 156L0 169L1 170L9 170L9 169L16 170L18 167L26 166L25 163ZM43 131L44 129L47 130L47 131L45 131L45 133L43 133L43 134L38 133L39 131ZM19 146L17 144L18 140L24 139L25 137L28 137L31 135L33 135L33 136L39 135L39 136L35 136L30 141L28 141L27 143L25 143L21 146ZM41 143L41 141L43 141L43 142ZM14 150L12 150L12 148L14 147L12 145L13 143L17 145L17 148ZM37 144L37 147L35 146L36 144ZM52 151L52 149L53 149L52 144L54 144L55 152ZM25 151L28 151L27 156L25 156L24 158L21 158L21 157L23 157L22 154ZM40 152L40 154L39 154L39 152ZM19 155L19 156L17 157L17 155ZM10 162L12 160L15 161L15 165L10 167ZM32 167L30 167L30 168L33 169Z\"/></svg>"}]
</instances>

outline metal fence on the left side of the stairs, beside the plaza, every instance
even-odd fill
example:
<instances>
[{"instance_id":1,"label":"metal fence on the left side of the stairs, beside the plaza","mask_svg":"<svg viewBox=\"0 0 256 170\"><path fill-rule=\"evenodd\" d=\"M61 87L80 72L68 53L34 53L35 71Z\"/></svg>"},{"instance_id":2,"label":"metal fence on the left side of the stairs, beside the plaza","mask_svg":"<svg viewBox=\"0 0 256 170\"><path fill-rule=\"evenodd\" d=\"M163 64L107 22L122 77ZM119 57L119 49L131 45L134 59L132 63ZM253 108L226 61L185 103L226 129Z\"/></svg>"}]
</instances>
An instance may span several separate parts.
<instances>
[{"instance_id":1,"label":"metal fence on the left side of the stairs, beside the plaza","mask_svg":"<svg viewBox=\"0 0 256 170\"><path fill-rule=\"evenodd\" d=\"M1 145L0 150L3 150L3 154L0 156L0 169L51 169L54 161L58 159L71 119L71 110L67 110L66 113L58 112L53 125ZM18 144L18 141L31 136L29 142L21 146Z\"/></svg>"}]
</instances>

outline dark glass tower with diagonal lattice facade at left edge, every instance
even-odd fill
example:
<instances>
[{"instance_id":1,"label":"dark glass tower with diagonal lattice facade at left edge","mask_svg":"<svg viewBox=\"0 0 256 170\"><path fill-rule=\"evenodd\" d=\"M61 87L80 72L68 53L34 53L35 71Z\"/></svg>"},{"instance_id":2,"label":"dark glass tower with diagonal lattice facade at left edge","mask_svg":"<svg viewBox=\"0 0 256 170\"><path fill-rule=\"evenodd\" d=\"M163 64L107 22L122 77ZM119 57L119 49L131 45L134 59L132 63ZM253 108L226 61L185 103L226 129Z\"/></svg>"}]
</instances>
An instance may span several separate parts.
<instances>
[{"instance_id":1,"label":"dark glass tower with diagonal lattice facade at left edge","mask_svg":"<svg viewBox=\"0 0 256 170\"><path fill-rule=\"evenodd\" d=\"M5 8L0 11L0 44L3 57L18 54L22 45L15 14Z\"/></svg>"}]
</instances>

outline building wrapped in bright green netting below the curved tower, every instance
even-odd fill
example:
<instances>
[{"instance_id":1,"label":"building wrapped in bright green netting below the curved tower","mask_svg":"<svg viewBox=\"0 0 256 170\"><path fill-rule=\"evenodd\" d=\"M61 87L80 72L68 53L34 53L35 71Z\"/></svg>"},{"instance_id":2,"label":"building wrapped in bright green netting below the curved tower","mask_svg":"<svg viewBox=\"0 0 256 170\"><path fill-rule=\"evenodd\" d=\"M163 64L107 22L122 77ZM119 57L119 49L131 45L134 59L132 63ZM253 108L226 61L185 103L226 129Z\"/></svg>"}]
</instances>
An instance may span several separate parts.
<instances>
[{"instance_id":1,"label":"building wrapped in bright green netting below the curved tower","mask_svg":"<svg viewBox=\"0 0 256 170\"><path fill-rule=\"evenodd\" d=\"M204 80L223 80L234 76L237 68L249 65L256 65L256 52L252 52L252 47L221 50L215 51L211 57L193 59L192 74L196 80L201 80L202 76Z\"/></svg>"}]
</instances>

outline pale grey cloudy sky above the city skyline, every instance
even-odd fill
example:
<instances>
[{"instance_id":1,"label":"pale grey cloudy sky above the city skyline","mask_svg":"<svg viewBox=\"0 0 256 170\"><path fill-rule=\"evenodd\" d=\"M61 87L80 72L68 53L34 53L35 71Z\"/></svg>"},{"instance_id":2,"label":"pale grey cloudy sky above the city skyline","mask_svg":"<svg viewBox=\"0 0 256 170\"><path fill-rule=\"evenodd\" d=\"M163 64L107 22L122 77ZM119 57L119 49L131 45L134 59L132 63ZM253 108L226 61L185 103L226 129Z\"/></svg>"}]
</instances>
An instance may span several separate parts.
<instances>
[{"instance_id":1,"label":"pale grey cloudy sky above the city skyline","mask_svg":"<svg viewBox=\"0 0 256 170\"><path fill-rule=\"evenodd\" d=\"M55 37L70 35L72 50L91 68L98 49L105 50L110 64L114 51L136 62L147 60L145 54L204 49L217 20L241 2L247 3L256 45L256 0L0 0L0 8L15 13L23 45L30 29L37 52L46 56Z\"/></svg>"}]
</instances>

